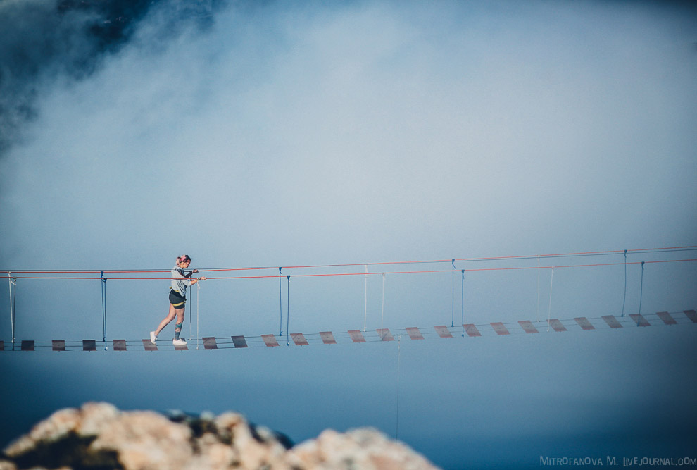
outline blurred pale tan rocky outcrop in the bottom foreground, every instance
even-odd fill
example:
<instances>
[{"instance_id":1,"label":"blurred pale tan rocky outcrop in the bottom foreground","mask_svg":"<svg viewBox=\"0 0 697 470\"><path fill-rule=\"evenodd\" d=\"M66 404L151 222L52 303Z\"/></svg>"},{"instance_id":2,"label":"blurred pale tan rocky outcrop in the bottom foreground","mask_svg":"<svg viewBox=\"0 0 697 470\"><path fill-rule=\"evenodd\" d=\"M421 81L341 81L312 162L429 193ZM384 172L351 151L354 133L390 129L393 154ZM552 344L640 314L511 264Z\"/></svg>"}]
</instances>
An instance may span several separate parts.
<instances>
[{"instance_id":1,"label":"blurred pale tan rocky outcrop in the bottom foreground","mask_svg":"<svg viewBox=\"0 0 697 470\"><path fill-rule=\"evenodd\" d=\"M327 430L292 447L244 416L122 412L111 404L62 409L15 440L0 470L434 469L406 445L370 428Z\"/></svg>"}]
</instances>

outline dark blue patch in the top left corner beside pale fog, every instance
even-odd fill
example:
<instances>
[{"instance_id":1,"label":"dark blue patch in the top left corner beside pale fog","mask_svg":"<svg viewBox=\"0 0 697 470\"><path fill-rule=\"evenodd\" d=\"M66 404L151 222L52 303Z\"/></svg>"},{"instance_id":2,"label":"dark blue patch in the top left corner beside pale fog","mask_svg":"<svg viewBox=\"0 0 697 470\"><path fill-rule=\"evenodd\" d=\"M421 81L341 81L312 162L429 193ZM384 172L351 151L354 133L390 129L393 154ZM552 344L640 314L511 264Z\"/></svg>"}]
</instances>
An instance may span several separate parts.
<instances>
[{"instance_id":1,"label":"dark blue patch in the top left corner beside pale fog","mask_svg":"<svg viewBox=\"0 0 697 470\"><path fill-rule=\"evenodd\" d=\"M0 4L0 156L21 142L60 78L82 80L127 42L154 2L6 0Z\"/></svg>"}]
</instances>

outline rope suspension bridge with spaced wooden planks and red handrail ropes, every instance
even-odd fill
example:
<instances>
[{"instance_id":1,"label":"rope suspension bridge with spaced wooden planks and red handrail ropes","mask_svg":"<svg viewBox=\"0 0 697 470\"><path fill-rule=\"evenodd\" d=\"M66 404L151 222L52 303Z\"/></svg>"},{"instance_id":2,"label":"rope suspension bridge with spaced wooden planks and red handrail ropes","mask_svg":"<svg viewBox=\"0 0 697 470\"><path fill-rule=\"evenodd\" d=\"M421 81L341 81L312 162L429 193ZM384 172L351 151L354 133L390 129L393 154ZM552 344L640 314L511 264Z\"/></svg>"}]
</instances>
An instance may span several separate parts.
<instances>
[{"instance_id":1,"label":"rope suspension bridge with spaced wooden planks and red handrail ropes","mask_svg":"<svg viewBox=\"0 0 697 470\"><path fill-rule=\"evenodd\" d=\"M353 264L316 264L306 266L261 266L261 267L234 267L234 268L199 268L199 273L206 273L207 280L228 282L241 279L278 279L279 283L279 333L260 334L260 335L224 335L208 336L200 335L198 328L196 335L189 332L189 344L172 345L164 341L152 343L149 339L108 339L107 335L107 283L118 282L120 280L158 280L169 281L169 277L163 274L170 273L165 269L130 269L130 270L4 270L0 271L8 278L8 293L11 317L11 339L9 341L0 340L0 351L159 351L159 350L217 350L217 349L245 349L250 347L277 347L287 346L312 346L312 345L337 345L337 344L359 344L363 342L389 342L401 340L451 340L453 338L467 339L486 337L486 336L507 336L516 334L534 333L563 333L567 331L591 331L600 329L620 329L647 326L680 326L693 325L697 323L697 314L694 309L683 311L659 311L646 313L641 311L641 296L643 295L643 271L647 265L653 264L674 264L674 263L694 263L697 259L689 256L676 257L684 254L693 254L697 247L663 247L649 249L624 249L598 252L574 252L559 254L537 254L523 256L491 256L465 259L436 259L436 260L417 260L417 261L393 261L380 263L353 263ZM654 258L649 261L640 261L636 257L640 255L651 255ZM598 262L598 258L608 256L622 256L619 261L609 260L608 262ZM628 258L629 257L629 258ZM632 259L634 258L634 259ZM586 261L591 260L592 262ZM493 261L515 261L521 266L486 266ZM544 264L543 264L544 261ZM603 260L604 261L604 260ZM442 265L446 264L446 268ZM459 266L458 266L459 265ZM636 313L625 314L625 304L627 299L627 266L641 266L641 286L639 294L639 311ZM615 315L602 315L587 318L574 317L570 319L552 318L551 301L552 288L555 270L577 269L577 268L598 268L600 266L624 266L624 292L622 309ZM322 268L329 272L316 273L308 272ZM356 270L363 268L363 271ZM354 271L351 271L351 270ZM284 271L285 270L285 271ZM370 270L370 271L369 271ZM536 271L538 274L537 298L538 298L538 318L536 320L521 319L514 322L494 321L486 323L465 323L465 274L478 271ZM539 273L549 271L550 285L548 288L548 309L547 319L539 319L539 304L541 302ZM292 272L292 274L287 274ZM450 325L437 326L413 326L405 328L376 328L368 330L366 328L365 317L368 310L368 277L382 276L382 302L384 310L384 279L386 276L408 276L412 274L434 274L451 273L451 323ZM346 331L320 331L317 333L291 333L289 330L289 305L290 305L290 280L293 278L312 278L329 276L365 276L365 316L363 328L356 328ZM456 278L460 281L460 292L456 292ZM20 282L36 282L40 280L68 280L78 281L98 281L101 285L102 299L102 319L103 335L101 340L26 340L15 338L15 305L17 285ZM282 285L286 283L286 302L285 319L286 329L283 331L284 320L284 299L282 295ZM200 283L197 284L200 288ZM456 293L461 297L460 318L456 322ZM199 319L198 306L199 293L196 290L196 322ZM691 305L686 307L693 307ZM191 307L189 307L191 308ZM191 313L191 312L190 312ZM383 312L384 313L384 312ZM191 314L189 321L191 321ZM195 343L195 344L194 344Z\"/></svg>"}]
</instances>

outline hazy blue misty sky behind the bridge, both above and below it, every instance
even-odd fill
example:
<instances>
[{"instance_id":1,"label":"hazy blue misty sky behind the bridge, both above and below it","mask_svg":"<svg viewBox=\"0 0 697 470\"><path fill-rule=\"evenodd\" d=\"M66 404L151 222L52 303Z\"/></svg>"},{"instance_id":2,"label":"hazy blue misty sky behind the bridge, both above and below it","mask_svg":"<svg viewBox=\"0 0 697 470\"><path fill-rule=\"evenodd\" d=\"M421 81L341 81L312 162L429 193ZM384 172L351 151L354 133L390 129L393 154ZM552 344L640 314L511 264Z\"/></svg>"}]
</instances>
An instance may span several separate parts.
<instances>
[{"instance_id":1,"label":"hazy blue misty sky behind the bridge, both above and below it","mask_svg":"<svg viewBox=\"0 0 697 470\"><path fill-rule=\"evenodd\" d=\"M696 17L639 1L0 1L0 269L99 278L189 254L209 280L184 332L219 338L695 309L695 262L652 262L694 251L641 250L697 245ZM613 253L535 258L585 252ZM423 260L442 262L376 264ZM578 264L610 266L561 267ZM211 271L243 267L269 269ZM168 273L107 276L108 338L145 338ZM20 278L15 336L101 340L101 299L99 280ZM6 345L9 317L0 302ZM4 401L20 402L3 441L110 400L239 409L296 441L395 435L398 409L398 437L445 468L539 466L579 440L670 457L697 435L679 399L694 335L3 353Z\"/></svg>"}]
</instances>

